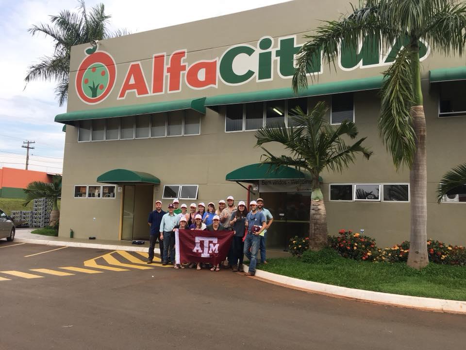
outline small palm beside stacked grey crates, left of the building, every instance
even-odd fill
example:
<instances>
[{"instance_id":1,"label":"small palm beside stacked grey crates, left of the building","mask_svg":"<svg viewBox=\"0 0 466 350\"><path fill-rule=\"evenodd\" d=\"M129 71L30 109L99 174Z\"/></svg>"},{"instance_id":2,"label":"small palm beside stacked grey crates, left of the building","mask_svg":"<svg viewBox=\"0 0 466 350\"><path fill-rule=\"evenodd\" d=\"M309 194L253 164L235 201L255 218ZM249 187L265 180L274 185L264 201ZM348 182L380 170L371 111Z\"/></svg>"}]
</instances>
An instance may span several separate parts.
<instances>
[{"instance_id":1,"label":"small palm beside stacked grey crates, left of the building","mask_svg":"<svg viewBox=\"0 0 466 350\"><path fill-rule=\"evenodd\" d=\"M26 193L26 201L23 206L27 206L31 201L38 198L48 198L53 201L53 208L50 212L50 226L54 226L60 219L60 211L58 210L58 198L62 193L62 176L54 175L52 182L33 181L27 188L24 189Z\"/></svg>"}]
</instances>

